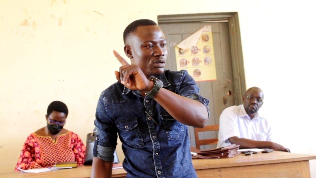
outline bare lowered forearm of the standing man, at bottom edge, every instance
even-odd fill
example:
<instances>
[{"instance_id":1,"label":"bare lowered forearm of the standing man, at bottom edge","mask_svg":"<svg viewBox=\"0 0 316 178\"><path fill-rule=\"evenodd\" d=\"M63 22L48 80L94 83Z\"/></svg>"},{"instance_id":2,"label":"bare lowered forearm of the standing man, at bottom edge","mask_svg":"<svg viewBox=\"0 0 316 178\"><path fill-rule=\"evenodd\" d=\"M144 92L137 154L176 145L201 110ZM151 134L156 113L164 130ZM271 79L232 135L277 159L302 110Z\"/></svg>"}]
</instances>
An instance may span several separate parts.
<instances>
[{"instance_id":1,"label":"bare lowered forearm of the standing man, at bottom edge","mask_svg":"<svg viewBox=\"0 0 316 178\"><path fill-rule=\"evenodd\" d=\"M93 158L91 178L111 178L113 162L103 161L98 157Z\"/></svg>"}]
</instances>

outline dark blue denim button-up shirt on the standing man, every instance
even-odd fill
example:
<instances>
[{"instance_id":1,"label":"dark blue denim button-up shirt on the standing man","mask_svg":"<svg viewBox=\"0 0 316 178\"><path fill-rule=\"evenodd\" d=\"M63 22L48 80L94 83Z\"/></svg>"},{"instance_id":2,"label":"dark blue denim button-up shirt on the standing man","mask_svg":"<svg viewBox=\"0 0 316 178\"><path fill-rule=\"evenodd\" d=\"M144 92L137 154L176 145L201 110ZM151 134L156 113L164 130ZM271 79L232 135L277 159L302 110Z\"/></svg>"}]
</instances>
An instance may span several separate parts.
<instances>
[{"instance_id":1,"label":"dark blue denim button-up shirt on the standing man","mask_svg":"<svg viewBox=\"0 0 316 178\"><path fill-rule=\"evenodd\" d=\"M155 77L163 82L163 88L198 100L208 110L209 100L198 95L199 88L186 70L165 70ZM98 127L94 156L104 154L99 146L115 149L119 133L126 177L197 177L191 162L188 127L170 116L154 99L117 82L101 93L94 124Z\"/></svg>"}]
</instances>

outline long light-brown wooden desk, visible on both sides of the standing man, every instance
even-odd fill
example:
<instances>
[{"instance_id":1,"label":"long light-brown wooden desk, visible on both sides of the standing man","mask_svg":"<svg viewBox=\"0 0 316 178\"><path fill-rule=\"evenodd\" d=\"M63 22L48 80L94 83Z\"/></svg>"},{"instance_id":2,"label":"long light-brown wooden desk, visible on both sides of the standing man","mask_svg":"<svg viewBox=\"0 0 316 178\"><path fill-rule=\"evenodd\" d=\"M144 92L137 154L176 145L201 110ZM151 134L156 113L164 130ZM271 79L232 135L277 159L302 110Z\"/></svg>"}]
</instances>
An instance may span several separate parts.
<instances>
[{"instance_id":1,"label":"long light-brown wooden desk, visible on both sides of the standing man","mask_svg":"<svg viewBox=\"0 0 316 178\"><path fill-rule=\"evenodd\" d=\"M310 178L309 161L316 159L313 155L302 155L273 151L258 153L251 156L240 154L234 158L192 160L199 178ZM89 178L91 166L79 166L73 169L63 169L44 173L12 172L0 174L0 178ZM125 177L124 169L114 169L112 177Z\"/></svg>"}]
</instances>

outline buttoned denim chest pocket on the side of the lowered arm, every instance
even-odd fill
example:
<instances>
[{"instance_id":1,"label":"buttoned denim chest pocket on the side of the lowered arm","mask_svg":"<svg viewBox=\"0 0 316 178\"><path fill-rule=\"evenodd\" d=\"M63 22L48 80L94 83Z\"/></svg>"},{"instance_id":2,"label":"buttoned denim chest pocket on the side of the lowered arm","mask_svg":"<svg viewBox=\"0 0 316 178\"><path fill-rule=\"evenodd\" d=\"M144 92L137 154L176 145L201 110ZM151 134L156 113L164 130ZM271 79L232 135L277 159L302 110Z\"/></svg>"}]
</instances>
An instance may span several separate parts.
<instances>
[{"instance_id":1,"label":"buttoned denim chest pocket on the side of the lowered arm","mask_svg":"<svg viewBox=\"0 0 316 178\"><path fill-rule=\"evenodd\" d=\"M144 141L138 127L137 118L120 120L115 122L115 124L119 129L119 135L124 140L125 144L133 148L143 146Z\"/></svg>"}]
</instances>

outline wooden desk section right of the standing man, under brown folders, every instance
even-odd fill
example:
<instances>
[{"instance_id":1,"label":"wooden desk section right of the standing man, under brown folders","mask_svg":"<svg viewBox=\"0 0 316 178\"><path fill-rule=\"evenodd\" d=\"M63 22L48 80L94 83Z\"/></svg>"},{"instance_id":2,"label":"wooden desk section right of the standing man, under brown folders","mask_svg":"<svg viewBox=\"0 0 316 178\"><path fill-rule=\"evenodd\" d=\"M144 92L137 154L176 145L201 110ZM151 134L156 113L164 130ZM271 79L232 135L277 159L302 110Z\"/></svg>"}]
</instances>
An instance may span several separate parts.
<instances>
[{"instance_id":1,"label":"wooden desk section right of the standing man, under brown folders","mask_svg":"<svg viewBox=\"0 0 316 178\"><path fill-rule=\"evenodd\" d=\"M316 156L273 151L227 159L193 160L193 166L199 178L310 178L311 159Z\"/></svg>"}]
</instances>

